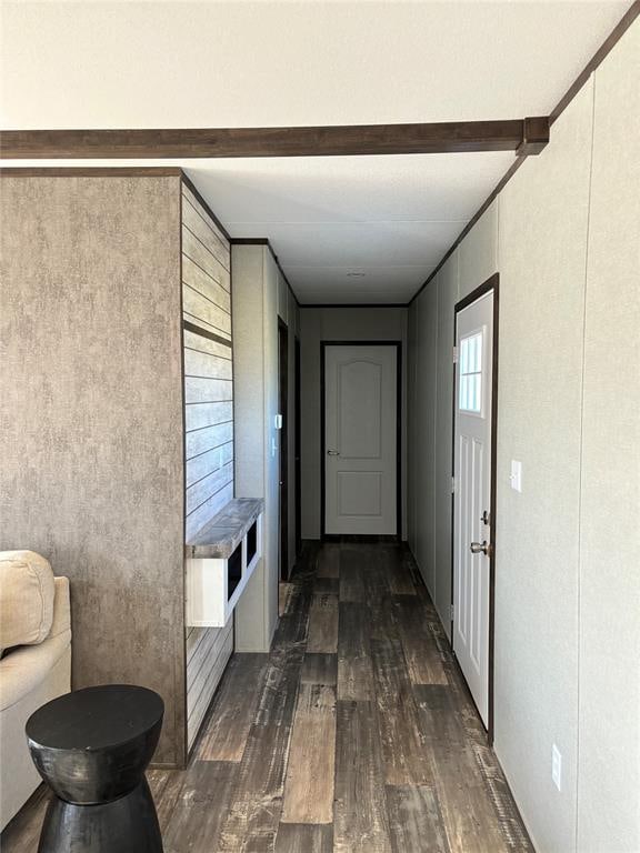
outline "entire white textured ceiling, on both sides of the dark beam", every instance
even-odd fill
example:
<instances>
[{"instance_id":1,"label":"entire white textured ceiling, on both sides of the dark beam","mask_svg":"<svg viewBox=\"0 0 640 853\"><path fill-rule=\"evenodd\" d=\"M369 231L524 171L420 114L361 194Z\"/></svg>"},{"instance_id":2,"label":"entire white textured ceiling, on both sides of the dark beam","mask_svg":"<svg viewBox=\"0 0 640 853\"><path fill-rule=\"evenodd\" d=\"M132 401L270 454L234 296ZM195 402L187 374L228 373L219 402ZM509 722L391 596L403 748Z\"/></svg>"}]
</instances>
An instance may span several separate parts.
<instances>
[{"instance_id":1,"label":"entire white textured ceiling, on both sides of the dark beam","mask_svg":"<svg viewBox=\"0 0 640 853\"><path fill-rule=\"evenodd\" d=\"M630 4L4 0L0 123L274 127L547 114ZM171 162L187 169L231 235L271 240L301 302L401 302L512 160ZM126 162L134 161L113 164Z\"/></svg>"}]
</instances>

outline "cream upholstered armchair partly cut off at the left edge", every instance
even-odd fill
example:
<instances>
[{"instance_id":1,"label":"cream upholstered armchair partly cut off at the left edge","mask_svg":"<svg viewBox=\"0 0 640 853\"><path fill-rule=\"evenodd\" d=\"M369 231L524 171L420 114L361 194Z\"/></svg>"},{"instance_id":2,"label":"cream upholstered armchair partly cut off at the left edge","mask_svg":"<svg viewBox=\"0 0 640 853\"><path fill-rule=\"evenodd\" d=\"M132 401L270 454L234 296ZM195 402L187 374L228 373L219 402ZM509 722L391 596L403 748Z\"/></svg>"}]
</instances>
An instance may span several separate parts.
<instances>
[{"instance_id":1,"label":"cream upholstered armchair partly cut off at the left edge","mask_svg":"<svg viewBox=\"0 0 640 853\"><path fill-rule=\"evenodd\" d=\"M71 683L69 580L33 551L0 552L0 830L40 783L24 723Z\"/></svg>"}]
</instances>

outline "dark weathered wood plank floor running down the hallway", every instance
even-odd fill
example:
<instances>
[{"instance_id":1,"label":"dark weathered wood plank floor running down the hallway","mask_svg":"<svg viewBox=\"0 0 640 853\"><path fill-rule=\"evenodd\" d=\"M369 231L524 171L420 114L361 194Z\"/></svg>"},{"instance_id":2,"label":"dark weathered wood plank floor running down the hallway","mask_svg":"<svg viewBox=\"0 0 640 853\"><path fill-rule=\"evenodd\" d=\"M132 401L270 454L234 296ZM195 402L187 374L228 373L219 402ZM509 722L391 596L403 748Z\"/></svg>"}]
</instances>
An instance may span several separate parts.
<instances>
[{"instance_id":1,"label":"dark weathered wood plank floor running down the hallway","mask_svg":"<svg viewBox=\"0 0 640 853\"><path fill-rule=\"evenodd\" d=\"M281 608L189 769L149 773L166 853L532 851L406 548L306 543ZM2 853L36 851L44 805Z\"/></svg>"}]
</instances>

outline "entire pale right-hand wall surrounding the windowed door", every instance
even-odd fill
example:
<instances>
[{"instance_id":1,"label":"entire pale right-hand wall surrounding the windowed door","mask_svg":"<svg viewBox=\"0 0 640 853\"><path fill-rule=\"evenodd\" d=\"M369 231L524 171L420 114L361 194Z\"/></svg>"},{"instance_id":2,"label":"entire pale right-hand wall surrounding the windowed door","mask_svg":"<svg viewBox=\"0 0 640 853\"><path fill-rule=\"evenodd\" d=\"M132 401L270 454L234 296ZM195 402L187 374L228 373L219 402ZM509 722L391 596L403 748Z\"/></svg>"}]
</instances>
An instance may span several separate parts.
<instances>
[{"instance_id":1,"label":"entire pale right-hand wall surrounding the windowed door","mask_svg":"<svg viewBox=\"0 0 640 853\"><path fill-rule=\"evenodd\" d=\"M409 541L448 630L451 311L500 272L496 751L541 853L640 849L638 92L636 22L410 309Z\"/></svg>"}]
</instances>

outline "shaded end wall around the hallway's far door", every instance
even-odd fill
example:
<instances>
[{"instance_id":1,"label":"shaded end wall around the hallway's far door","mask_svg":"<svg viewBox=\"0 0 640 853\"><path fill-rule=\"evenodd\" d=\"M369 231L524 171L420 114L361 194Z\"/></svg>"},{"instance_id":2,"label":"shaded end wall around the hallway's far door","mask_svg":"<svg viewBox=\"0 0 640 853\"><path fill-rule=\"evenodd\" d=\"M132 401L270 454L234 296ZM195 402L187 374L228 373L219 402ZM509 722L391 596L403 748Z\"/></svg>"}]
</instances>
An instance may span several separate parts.
<instances>
[{"instance_id":1,"label":"shaded end wall around the hallway's far door","mask_svg":"<svg viewBox=\"0 0 640 853\"><path fill-rule=\"evenodd\" d=\"M402 518L407 494L407 309L301 308L302 538L320 538L320 342L402 342ZM406 533L406 530L402 531Z\"/></svg>"}]
</instances>

